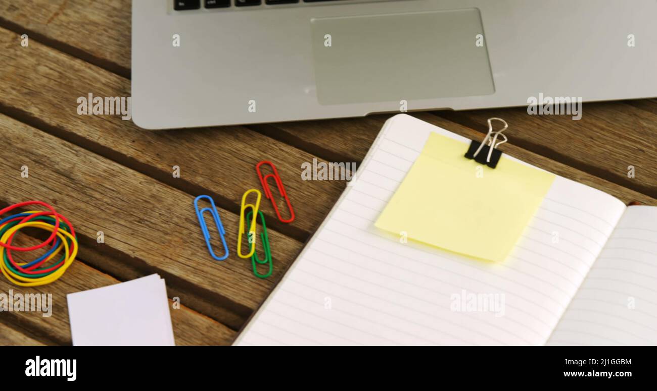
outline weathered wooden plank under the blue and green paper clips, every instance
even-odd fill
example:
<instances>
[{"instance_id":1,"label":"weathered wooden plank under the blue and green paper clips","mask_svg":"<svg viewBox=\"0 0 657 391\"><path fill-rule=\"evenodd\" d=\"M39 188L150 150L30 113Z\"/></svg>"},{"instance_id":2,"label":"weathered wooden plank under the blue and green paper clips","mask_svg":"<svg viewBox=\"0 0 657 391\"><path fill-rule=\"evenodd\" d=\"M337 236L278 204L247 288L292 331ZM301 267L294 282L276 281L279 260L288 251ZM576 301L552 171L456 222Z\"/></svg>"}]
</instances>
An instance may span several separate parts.
<instances>
[{"instance_id":1,"label":"weathered wooden plank under the blue and green paper clips","mask_svg":"<svg viewBox=\"0 0 657 391\"><path fill-rule=\"evenodd\" d=\"M219 209L231 257L217 262L208 255L200 234L193 196L5 115L0 115L0 129L3 147L12 151L11 159L0 160L0 201L50 201L76 226L82 258L100 270L114 261L107 268L124 264L148 274L157 272L170 287L181 285L181 291L194 293L181 297L183 303L194 308L189 303L205 300L217 306L223 311L218 319L234 329L265 298L302 247L269 230L275 271L269 279L258 279L250 260L235 255L238 216L233 213ZM23 165L29 178L20 175ZM96 243L99 231L104 232L104 244ZM108 257L95 264L96 251Z\"/></svg>"}]
</instances>

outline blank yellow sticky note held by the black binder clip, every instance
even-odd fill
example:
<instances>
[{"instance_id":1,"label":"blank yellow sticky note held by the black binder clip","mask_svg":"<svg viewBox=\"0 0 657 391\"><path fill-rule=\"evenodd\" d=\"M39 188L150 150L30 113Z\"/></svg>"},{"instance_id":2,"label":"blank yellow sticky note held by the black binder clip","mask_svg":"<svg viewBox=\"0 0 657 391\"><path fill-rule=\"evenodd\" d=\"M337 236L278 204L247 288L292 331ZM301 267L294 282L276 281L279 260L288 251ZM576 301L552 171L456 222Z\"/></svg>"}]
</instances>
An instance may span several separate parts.
<instances>
[{"instance_id":1,"label":"blank yellow sticky note held by the black binder clip","mask_svg":"<svg viewBox=\"0 0 657 391\"><path fill-rule=\"evenodd\" d=\"M555 175L504 156L491 169L464 157L467 149L431 133L374 225L468 257L504 260Z\"/></svg>"}]
</instances>

